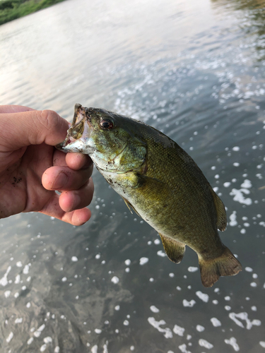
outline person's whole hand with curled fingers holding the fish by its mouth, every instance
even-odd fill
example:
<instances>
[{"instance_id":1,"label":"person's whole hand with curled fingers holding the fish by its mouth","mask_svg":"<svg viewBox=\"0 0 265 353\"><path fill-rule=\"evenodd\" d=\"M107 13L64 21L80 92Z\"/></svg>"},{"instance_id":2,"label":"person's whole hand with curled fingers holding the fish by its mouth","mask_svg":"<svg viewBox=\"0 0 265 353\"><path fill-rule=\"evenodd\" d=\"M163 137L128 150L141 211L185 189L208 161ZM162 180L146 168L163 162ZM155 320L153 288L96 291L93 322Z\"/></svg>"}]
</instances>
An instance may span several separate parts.
<instances>
[{"instance_id":1,"label":"person's whole hand with curled fingers holding the fish by its mouth","mask_svg":"<svg viewBox=\"0 0 265 353\"><path fill-rule=\"evenodd\" d=\"M35 211L71 225L90 219L92 160L54 148L68 128L50 110L0 106L0 218Z\"/></svg>"}]
</instances>

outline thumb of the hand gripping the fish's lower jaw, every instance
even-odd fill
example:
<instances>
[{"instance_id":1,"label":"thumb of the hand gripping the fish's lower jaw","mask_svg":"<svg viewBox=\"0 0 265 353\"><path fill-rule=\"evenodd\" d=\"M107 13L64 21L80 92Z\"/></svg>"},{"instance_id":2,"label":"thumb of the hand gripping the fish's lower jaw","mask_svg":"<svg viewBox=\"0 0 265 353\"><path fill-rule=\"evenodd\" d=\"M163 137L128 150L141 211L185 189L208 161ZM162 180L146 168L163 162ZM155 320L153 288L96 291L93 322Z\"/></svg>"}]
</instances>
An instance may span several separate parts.
<instances>
[{"instance_id":1,"label":"thumb of the hand gripping the fish's lower jaw","mask_svg":"<svg viewBox=\"0 0 265 353\"><path fill-rule=\"evenodd\" d=\"M0 114L1 148L17 150L28 145L57 145L66 137L68 122L52 110Z\"/></svg>"}]
</instances>

